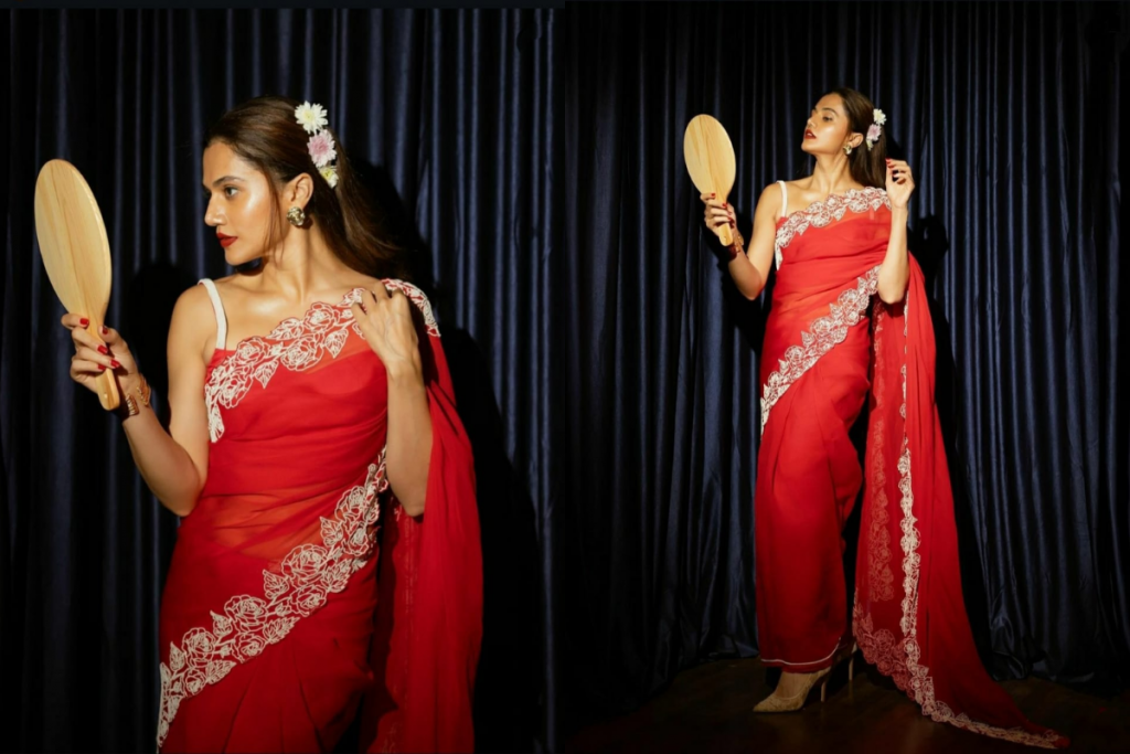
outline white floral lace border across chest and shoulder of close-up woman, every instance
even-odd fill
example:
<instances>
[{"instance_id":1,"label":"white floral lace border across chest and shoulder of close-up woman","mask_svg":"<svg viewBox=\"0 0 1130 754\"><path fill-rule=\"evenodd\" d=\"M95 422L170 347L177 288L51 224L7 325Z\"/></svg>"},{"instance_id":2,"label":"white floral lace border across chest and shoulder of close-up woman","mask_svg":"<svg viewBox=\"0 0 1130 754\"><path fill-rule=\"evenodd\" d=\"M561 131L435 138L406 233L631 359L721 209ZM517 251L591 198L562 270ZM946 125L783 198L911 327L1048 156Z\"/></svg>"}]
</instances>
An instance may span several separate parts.
<instances>
[{"instance_id":1,"label":"white floral lace border across chest and shoulder of close-up woman","mask_svg":"<svg viewBox=\"0 0 1130 754\"><path fill-rule=\"evenodd\" d=\"M408 296L423 312L428 335L440 337L432 304L423 291L403 280L382 283L386 288ZM350 328L360 336L360 328L354 321L349 306L359 302L364 293L364 288L354 288L337 305L316 302L303 319L292 317L282 320L266 338L255 336L241 340L235 352L212 370L205 383L208 436L211 441L217 442L224 435L220 407L235 408L251 390L252 382L266 388L280 364L293 372L303 372L318 364L327 353L337 358Z\"/></svg>"}]
</instances>

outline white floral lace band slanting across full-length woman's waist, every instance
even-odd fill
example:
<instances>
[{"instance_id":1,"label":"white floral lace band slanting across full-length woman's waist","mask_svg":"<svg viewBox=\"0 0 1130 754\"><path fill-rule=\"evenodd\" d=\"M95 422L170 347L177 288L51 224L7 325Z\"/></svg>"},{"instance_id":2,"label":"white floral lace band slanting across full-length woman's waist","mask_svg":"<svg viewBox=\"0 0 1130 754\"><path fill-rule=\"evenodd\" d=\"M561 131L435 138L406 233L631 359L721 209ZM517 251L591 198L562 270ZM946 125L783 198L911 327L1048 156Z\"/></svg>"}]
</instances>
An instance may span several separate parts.
<instances>
[{"instance_id":1,"label":"white floral lace band slanting across full-length woman's waist","mask_svg":"<svg viewBox=\"0 0 1130 754\"><path fill-rule=\"evenodd\" d=\"M800 333L799 346L789 346L780 359L780 369L770 374L762 388L762 434L770 411L793 382L810 370L820 356L832 350L847 337L847 330L859 322L867 311L871 296L879 285L879 267L859 278L854 288L840 294L832 304L832 312L812 321L810 329Z\"/></svg>"}]
</instances>

